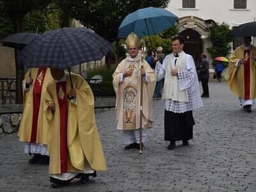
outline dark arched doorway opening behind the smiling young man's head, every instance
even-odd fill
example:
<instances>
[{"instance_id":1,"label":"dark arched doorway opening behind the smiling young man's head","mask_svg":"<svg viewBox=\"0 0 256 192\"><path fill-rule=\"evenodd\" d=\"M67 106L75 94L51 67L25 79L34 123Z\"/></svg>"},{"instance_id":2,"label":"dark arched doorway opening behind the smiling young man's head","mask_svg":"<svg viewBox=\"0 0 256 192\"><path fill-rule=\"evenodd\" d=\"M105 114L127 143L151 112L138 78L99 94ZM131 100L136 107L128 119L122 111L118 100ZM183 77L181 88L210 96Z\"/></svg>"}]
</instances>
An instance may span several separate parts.
<instances>
[{"instance_id":1,"label":"dark arched doorway opening behind the smiling young man's head","mask_svg":"<svg viewBox=\"0 0 256 192\"><path fill-rule=\"evenodd\" d=\"M201 35L193 29L185 29L180 33L185 39L185 45L183 47L184 52L193 56L196 67L199 66L200 54L203 52L203 44Z\"/></svg>"}]
</instances>

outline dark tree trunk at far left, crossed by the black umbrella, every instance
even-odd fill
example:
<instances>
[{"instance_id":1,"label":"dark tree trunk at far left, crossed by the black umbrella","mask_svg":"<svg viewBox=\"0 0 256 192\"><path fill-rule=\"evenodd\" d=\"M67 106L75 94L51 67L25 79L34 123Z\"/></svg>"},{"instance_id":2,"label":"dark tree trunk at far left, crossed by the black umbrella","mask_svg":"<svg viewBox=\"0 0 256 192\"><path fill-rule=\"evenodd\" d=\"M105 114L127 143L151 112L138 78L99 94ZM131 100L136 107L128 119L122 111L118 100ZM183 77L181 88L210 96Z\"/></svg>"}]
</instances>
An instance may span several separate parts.
<instances>
[{"instance_id":1,"label":"dark tree trunk at far left, crossed by the black umbrella","mask_svg":"<svg viewBox=\"0 0 256 192\"><path fill-rule=\"evenodd\" d=\"M13 17L14 33L20 33L22 31L22 17L17 14ZM22 80L24 79L24 65L19 62L20 51L15 49L15 67L16 67L16 83L15 83L15 103L22 104L23 93L22 93Z\"/></svg>"}]
</instances>

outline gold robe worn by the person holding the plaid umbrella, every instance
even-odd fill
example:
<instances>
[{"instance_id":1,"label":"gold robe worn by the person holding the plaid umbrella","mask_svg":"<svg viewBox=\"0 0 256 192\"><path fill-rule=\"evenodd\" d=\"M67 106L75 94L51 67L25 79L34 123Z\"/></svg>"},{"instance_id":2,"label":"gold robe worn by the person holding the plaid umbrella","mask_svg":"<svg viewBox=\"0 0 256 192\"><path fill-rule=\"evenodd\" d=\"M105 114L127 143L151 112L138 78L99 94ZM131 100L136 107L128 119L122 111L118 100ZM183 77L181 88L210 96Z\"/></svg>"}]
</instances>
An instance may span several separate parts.
<instances>
[{"instance_id":1,"label":"gold robe worn by the person holding the plaid umbrella","mask_svg":"<svg viewBox=\"0 0 256 192\"><path fill-rule=\"evenodd\" d=\"M66 73L67 74L67 73ZM67 147L61 147L61 119L59 102L67 98L70 92L70 76L63 83L65 88L57 92L56 82L47 86L45 93L45 114L50 122L47 147L50 156L49 173L60 174L62 171L63 154L67 153L67 172L84 170L84 161L88 161L93 170L106 170L99 134L95 124L93 93L84 79L72 74L72 82L76 90L76 104L67 100ZM62 85L63 86L63 85ZM55 111L48 109L49 103L54 102ZM66 102L66 101L65 101ZM66 150L61 151L61 150ZM86 159L85 159L86 158Z\"/></svg>"}]
</instances>

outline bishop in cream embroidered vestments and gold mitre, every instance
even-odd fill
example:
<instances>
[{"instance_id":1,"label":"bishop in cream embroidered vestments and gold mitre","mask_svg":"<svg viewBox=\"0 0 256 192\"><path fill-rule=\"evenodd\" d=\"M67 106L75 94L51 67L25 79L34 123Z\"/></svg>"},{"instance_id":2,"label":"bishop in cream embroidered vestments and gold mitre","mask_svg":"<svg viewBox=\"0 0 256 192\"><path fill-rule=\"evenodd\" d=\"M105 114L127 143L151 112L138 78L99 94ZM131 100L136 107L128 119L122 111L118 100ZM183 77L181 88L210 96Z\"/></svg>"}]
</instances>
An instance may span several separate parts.
<instances>
[{"instance_id":1,"label":"bishop in cream embroidered vestments and gold mitre","mask_svg":"<svg viewBox=\"0 0 256 192\"><path fill-rule=\"evenodd\" d=\"M125 40L129 56L122 60L113 74L113 86L116 92L117 129L123 130L125 149L138 148L140 143L140 94L141 76L143 76L142 141L145 141L145 129L152 127L152 97L156 85L156 76L143 61L141 69L140 40L131 33Z\"/></svg>"}]
</instances>

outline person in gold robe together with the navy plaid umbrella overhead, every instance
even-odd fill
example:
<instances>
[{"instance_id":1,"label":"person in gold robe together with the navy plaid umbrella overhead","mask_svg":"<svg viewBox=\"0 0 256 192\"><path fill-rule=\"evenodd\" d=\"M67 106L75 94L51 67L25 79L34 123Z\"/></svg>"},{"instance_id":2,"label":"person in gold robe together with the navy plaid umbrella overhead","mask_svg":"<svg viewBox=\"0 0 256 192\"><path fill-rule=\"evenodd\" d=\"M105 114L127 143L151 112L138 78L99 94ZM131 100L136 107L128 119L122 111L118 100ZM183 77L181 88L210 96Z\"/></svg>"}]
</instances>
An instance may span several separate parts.
<instances>
[{"instance_id":1,"label":"person in gold robe together with the navy plaid umbrella overhead","mask_svg":"<svg viewBox=\"0 0 256 192\"><path fill-rule=\"evenodd\" d=\"M96 61L113 46L85 28L47 31L20 53L27 67L51 68L54 79L45 92L44 112L49 122L47 147L52 188L81 178L88 182L106 163L95 124L94 99L83 77L65 68Z\"/></svg>"}]
</instances>

